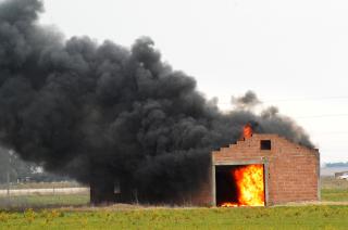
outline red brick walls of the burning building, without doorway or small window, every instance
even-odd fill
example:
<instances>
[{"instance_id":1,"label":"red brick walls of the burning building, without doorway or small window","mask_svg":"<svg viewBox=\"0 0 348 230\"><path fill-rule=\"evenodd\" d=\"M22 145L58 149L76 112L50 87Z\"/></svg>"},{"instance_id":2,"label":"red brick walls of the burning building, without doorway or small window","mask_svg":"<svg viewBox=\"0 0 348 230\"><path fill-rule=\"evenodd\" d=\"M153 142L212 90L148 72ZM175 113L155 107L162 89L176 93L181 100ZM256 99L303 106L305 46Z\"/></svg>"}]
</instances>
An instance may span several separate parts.
<instances>
[{"instance_id":1,"label":"red brick walls of the burning building, without doorway or small window","mask_svg":"<svg viewBox=\"0 0 348 230\"><path fill-rule=\"evenodd\" d=\"M271 140L271 150L261 150L260 141ZM320 157L318 150L295 144L277 135L253 135L212 153L212 168L206 184L192 200L197 205L214 205L215 165L264 164L266 205L318 201Z\"/></svg>"}]
</instances>

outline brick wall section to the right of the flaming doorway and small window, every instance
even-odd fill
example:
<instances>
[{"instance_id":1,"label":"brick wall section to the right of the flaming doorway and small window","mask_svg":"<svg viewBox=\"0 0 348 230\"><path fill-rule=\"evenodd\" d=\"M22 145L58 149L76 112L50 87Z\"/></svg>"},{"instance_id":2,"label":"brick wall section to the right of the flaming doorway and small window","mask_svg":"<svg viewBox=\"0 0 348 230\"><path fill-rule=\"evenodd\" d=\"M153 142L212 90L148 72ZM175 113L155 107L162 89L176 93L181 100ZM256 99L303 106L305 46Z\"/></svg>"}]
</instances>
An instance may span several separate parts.
<instances>
[{"instance_id":1,"label":"brick wall section to the right of the flaming doorway and small window","mask_svg":"<svg viewBox=\"0 0 348 230\"><path fill-rule=\"evenodd\" d=\"M276 139L269 163L270 204L320 200L320 158L315 150Z\"/></svg>"}]
</instances>

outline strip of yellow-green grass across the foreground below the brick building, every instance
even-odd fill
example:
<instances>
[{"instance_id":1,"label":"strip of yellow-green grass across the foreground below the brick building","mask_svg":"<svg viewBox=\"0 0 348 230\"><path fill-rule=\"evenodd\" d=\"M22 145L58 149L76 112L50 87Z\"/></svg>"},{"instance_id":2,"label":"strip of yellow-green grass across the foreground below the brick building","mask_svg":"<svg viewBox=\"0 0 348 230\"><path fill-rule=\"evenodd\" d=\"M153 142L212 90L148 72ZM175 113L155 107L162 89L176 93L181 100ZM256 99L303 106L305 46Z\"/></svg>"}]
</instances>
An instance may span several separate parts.
<instances>
[{"instance_id":1,"label":"strip of yellow-green grass across the foreground below the brick building","mask_svg":"<svg viewBox=\"0 0 348 230\"><path fill-rule=\"evenodd\" d=\"M0 213L0 229L347 229L348 206Z\"/></svg>"}]
</instances>

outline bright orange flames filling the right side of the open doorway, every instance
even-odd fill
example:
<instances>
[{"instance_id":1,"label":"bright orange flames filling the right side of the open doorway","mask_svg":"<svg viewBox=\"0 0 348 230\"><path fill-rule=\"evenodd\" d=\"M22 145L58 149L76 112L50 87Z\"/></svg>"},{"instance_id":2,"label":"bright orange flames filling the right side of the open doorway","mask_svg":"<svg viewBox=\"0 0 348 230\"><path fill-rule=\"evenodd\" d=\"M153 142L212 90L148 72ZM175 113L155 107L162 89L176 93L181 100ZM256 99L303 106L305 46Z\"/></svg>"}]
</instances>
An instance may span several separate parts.
<instances>
[{"instance_id":1,"label":"bright orange flames filling the right side of the open doorway","mask_svg":"<svg viewBox=\"0 0 348 230\"><path fill-rule=\"evenodd\" d=\"M231 170L236 187L236 202L224 202L222 207L264 206L263 165L247 165Z\"/></svg>"}]
</instances>

